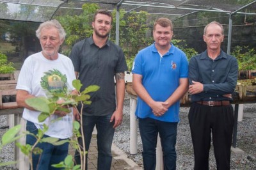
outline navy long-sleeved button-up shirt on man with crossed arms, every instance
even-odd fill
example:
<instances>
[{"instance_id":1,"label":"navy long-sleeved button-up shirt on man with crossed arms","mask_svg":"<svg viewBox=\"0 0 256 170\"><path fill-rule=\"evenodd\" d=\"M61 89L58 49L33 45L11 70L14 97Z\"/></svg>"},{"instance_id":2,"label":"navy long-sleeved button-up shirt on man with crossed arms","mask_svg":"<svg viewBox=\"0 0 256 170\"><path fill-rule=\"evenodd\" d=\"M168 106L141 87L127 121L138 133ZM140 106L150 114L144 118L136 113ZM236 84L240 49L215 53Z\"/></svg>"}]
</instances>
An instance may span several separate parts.
<instances>
[{"instance_id":1,"label":"navy long-sleeved button-up shirt on man with crossed arms","mask_svg":"<svg viewBox=\"0 0 256 170\"><path fill-rule=\"evenodd\" d=\"M189 84L201 82L204 91L191 95L191 102L232 100L223 95L234 92L237 75L237 59L222 50L214 60L209 58L207 50L194 56L189 61Z\"/></svg>"}]
</instances>

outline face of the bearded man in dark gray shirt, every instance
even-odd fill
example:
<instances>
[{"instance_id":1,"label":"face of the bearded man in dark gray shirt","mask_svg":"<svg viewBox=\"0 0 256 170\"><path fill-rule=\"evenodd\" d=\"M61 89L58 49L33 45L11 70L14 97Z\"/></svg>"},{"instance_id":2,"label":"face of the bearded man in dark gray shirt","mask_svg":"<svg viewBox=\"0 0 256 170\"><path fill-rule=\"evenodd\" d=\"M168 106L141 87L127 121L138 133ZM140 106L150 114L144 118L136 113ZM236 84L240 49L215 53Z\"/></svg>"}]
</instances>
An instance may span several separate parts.
<instances>
[{"instance_id":1,"label":"face of the bearded man in dark gray shirt","mask_svg":"<svg viewBox=\"0 0 256 170\"><path fill-rule=\"evenodd\" d=\"M111 17L98 13L95 17L95 21L92 22L93 33L100 38L106 38L109 35L111 29Z\"/></svg>"}]
</instances>

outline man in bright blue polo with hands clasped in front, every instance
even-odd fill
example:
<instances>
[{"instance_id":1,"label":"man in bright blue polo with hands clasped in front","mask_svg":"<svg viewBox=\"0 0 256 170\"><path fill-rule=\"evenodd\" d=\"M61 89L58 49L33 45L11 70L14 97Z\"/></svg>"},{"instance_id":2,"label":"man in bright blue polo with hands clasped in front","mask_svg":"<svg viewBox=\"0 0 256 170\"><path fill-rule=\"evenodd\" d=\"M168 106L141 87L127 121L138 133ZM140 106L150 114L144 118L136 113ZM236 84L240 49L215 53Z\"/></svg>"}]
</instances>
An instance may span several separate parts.
<instances>
[{"instance_id":1,"label":"man in bright blue polo with hands clasped in front","mask_svg":"<svg viewBox=\"0 0 256 170\"><path fill-rule=\"evenodd\" d=\"M188 90L188 59L171 42L172 22L154 23L154 43L138 52L132 67L132 87L138 95L145 170L156 169L157 134L161 137L164 169L176 169L176 136L179 100Z\"/></svg>"}]
</instances>

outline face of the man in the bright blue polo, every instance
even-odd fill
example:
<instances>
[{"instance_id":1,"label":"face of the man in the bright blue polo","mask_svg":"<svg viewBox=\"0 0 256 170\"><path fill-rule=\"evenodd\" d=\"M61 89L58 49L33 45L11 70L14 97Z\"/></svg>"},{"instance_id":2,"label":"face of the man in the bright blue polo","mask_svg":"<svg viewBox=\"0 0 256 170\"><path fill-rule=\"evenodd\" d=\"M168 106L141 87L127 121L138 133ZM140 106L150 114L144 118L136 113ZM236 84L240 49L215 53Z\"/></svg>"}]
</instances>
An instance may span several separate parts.
<instances>
[{"instance_id":1,"label":"face of the man in the bright blue polo","mask_svg":"<svg viewBox=\"0 0 256 170\"><path fill-rule=\"evenodd\" d=\"M171 26L162 27L159 24L155 26L153 31L154 41L159 47L169 47L172 40L173 32Z\"/></svg>"}]
</instances>

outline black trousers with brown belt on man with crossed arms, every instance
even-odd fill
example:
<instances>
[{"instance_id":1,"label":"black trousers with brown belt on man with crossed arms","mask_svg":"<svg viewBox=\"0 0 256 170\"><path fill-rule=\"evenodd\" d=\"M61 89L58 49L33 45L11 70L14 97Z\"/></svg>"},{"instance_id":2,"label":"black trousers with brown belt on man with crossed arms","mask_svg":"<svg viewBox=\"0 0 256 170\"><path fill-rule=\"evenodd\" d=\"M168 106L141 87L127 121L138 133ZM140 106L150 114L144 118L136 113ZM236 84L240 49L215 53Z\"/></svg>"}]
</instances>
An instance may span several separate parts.
<instances>
[{"instance_id":1,"label":"black trousers with brown belt on man with crossed arms","mask_svg":"<svg viewBox=\"0 0 256 170\"><path fill-rule=\"evenodd\" d=\"M212 107L193 103L189 110L189 125L194 147L195 170L209 169L211 134L217 169L230 169L234 126L232 105Z\"/></svg>"}]
</instances>

